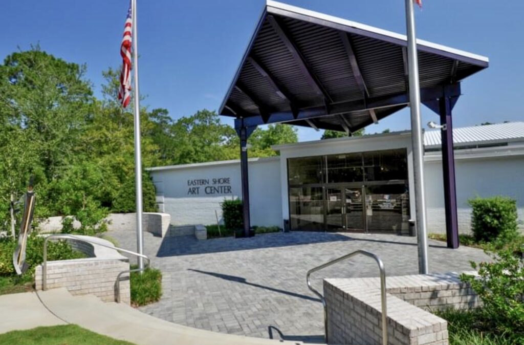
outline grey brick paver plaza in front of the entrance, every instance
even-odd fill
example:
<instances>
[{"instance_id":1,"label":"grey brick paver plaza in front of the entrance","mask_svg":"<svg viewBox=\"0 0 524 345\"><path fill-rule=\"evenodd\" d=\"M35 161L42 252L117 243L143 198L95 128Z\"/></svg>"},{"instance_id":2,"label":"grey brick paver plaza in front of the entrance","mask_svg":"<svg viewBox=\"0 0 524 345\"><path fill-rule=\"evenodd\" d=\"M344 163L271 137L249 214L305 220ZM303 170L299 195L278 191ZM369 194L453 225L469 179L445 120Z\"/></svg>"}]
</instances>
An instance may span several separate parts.
<instances>
[{"instance_id":1,"label":"grey brick paver plaza in front of the entrance","mask_svg":"<svg viewBox=\"0 0 524 345\"><path fill-rule=\"evenodd\" d=\"M108 234L136 249L134 232ZM388 276L418 273L416 239L407 236L290 232L198 241L145 233L144 242L145 254L163 273L163 296L140 310L181 325L252 337L322 342L322 305L307 288L305 274L333 258L363 249L382 258ZM429 244L432 273L470 271L470 261L487 258L470 247ZM377 275L373 260L357 257L318 272L313 285L321 289L324 277Z\"/></svg>"}]
</instances>

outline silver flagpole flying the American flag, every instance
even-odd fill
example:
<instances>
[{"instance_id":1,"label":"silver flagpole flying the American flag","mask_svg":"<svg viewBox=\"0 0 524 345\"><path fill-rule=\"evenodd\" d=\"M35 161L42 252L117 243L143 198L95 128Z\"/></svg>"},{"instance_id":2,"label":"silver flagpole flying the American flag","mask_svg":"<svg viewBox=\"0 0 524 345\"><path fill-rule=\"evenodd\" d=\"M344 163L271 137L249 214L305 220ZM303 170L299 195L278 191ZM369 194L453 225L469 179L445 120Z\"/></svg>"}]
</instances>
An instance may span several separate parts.
<instances>
[{"instance_id":1,"label":"silver flagpole flying the American flag","mask_svg":"<svg viewBox=\"0 0 524 345\"><path fill-rule=\"evenodd\" d=\"M138 24L136 0L132 0L133 13L133 80L134 80L134 123L135 123L135 198L136 198L136 239L137 252L144 255L144 233L142 232L142 155L140 148L140 95L138 92ZM144 259L138 257L138 268L144 268ZM140 272L141 273L141 272Z\"/></svg>"}]
</instances>

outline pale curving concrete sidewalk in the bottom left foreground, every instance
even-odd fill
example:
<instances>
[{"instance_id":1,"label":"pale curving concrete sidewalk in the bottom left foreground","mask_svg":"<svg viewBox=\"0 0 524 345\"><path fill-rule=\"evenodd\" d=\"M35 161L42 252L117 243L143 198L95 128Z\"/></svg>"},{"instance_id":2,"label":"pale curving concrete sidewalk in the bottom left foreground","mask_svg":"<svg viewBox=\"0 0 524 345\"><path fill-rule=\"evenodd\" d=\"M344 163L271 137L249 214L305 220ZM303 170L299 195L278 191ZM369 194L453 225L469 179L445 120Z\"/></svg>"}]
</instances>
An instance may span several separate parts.
<instances>
[{"instance_id":1,"label":"pale curving concrete sidewalk in the bottom left foreground","mask_svg":"<svg viewBox=\"0 0 524 345\"><path fill-rule=\"evenodd\" d=\"M0 333L69 323L138 345L297 344L181 326L125 304L103 303L91 295L73 297L63 288L0 296L0 310Z\"/></svg>"}]
</instances>

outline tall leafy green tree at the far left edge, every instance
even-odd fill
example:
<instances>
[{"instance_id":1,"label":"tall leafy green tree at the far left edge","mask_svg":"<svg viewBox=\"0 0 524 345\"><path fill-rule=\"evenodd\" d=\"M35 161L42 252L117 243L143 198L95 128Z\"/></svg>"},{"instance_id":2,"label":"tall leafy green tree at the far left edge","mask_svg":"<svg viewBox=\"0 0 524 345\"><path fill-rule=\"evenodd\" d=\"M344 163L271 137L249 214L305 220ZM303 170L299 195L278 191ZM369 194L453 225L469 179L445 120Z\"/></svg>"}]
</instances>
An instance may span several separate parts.
<instances>
[{"instance_id":1,"label":"tall leafy green tree at the far left edge","mask_svg":"<svg viewBox=\"0 0 524 345\"><path fill-rule=\"evenodd\" d=\"M39 186L35 214L54 211L49 181L73 163L86 118L93 111L85 66L48 55L38 46L9 55L0 65L0 224L10 196L20 198L30 175ZM40 206L38 206L40 205Z\"/></svg>"}]
</instances>

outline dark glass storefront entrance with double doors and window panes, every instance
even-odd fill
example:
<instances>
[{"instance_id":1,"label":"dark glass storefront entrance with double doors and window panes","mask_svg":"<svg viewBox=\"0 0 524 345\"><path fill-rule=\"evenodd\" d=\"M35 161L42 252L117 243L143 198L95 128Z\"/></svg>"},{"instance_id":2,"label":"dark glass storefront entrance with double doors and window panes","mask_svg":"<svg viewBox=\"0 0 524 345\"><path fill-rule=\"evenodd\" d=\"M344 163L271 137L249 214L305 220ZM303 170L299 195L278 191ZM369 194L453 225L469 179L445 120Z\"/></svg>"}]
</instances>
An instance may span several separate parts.
<instances>
[{"instance_id":1,"label":"dark glass storefront entrance with double doors and window panes","mask_svg":"<svg viewBox=\"0 0 524 345\"><path fill-rule=\"evenodd\" d=\"M408 230L406 149L290 158L288 174L291 230Z\"/></svg>"}]
</instances>

